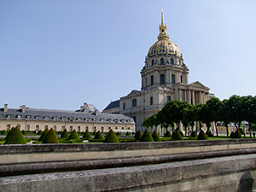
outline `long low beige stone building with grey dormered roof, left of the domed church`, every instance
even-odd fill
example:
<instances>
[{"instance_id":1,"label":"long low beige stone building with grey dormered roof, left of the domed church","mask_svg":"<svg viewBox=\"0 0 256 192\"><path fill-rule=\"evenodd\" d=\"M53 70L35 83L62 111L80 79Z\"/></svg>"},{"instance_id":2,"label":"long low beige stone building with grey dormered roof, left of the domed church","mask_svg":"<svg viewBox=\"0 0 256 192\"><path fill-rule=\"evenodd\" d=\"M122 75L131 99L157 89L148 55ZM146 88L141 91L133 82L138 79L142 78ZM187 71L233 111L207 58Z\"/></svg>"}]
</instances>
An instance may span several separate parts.
<instances>
[{"instance_id":1,"label":"long low beige stone building with grey dormered roof, left of the domed church","mask_svg":"<svg viewBox=\"0 0 256 192\"><path fill-rule=\"evenodd\" d=\"M100 113L93 105L84 103L79 110L54 110L26 108L0 108L0 130L10 130L19 125L20 130L44 131L53 128L55 131L135 131L133 119L123 114Z\"/></svg>"}]
</instances>

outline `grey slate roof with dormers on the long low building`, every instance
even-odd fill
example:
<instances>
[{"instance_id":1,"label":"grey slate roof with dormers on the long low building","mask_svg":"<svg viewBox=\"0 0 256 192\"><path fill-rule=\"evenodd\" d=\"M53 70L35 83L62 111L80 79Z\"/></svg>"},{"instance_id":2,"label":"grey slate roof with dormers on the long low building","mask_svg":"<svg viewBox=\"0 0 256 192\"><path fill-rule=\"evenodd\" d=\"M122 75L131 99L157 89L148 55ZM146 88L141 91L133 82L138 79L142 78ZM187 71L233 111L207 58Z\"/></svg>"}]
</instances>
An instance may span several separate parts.
<instances>
[{"instance_id":1,"label":"grey slate roof with dormers on the long low building","mask_svg":"<svg viewBox=\"0 0 256 192\"><path fill-rule=\"evenodd\" d=\"M11 115L10 119L18 119L20 115L20 119L23 119L23 120L134 123L134 120L132 118L129 118L124 114L112 114L112 113L96 114L96 113L76 112L71 110L37 109L37 108L26 108L25 113L22 113L22 109L8 108L7 112L3 112L3 108L0 108L0 120L8 119L8 115ZM30 116L30 119L28 119L29 116ZM62 119L62 118L65 118L65 119Z\"/></svg>"}]
</instances>

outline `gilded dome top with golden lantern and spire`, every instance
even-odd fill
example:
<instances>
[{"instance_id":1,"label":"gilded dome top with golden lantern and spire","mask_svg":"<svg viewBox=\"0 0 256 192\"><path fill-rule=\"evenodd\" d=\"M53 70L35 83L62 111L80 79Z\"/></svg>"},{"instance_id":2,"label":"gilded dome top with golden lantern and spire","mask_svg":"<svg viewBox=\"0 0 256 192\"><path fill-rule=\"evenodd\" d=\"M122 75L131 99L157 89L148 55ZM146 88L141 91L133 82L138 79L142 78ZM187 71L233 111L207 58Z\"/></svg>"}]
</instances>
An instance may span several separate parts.
<instances>
[{"instance_id":1,"label":"gilded dome top with golden lantern and spire","mask_svg":"<svg viewBox=\"0 0 256 192\"><path fill-rule=\"evenodd\" d=\"M182 56L180 50L176 44L173 44L169 40L169 35L167 35L167 27L164 23L164 15L162 12L161 24L159 25L160 33L158 36L158 41L155 42L148 50L148 57L155 55L178 55Z\"/></svg>"}]
</instances>

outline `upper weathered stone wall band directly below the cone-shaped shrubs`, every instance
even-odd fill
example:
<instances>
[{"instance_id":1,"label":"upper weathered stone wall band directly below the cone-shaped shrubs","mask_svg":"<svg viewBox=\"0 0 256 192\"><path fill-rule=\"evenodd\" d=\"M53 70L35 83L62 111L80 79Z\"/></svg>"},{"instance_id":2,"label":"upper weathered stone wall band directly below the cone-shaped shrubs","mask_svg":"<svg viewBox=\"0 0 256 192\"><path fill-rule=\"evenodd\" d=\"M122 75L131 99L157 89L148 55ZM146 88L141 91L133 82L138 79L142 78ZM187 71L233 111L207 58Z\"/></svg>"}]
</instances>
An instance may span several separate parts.
<instances>
[{"instance_id":1,"label":"upper weathered stone wall band directly below the cone-shaped shrubs","mask_svg":"<svg viewBox=\"0 0 256 192\"><path fill-rule=\"evenodd\" d=\"M50 152L88 152L88 151L113 151L156 148L185 148L214 145L233 145L256 143L255 138L224 139L224 140L200 140L200 141L174 141L154 143L73 143L73 144L14 144L0 145L2 154L27 154Z\"/></svg>"}]
</instances>

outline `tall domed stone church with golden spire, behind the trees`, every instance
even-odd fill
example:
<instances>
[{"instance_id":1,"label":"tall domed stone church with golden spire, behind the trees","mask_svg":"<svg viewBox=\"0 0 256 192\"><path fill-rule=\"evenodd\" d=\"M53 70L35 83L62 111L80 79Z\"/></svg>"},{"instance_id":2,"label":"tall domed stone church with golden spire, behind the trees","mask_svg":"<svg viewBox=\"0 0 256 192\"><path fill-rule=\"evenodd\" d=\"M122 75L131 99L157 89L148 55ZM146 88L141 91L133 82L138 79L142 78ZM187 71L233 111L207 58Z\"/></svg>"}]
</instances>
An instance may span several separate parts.
<instances>
[{"instance_id":1,"label":"tall domed stone church with golden spire, behind the trees","mask_svg":"<svg viewBox=\"0 0 256 192\"><path fill-rule=\"evenodd\" d=\"M177 45L169 40L164 15L161 13L161 24L158 40L149 48L145 65L141 70L141 90L131 90L127 96L120 97L119 113L133 118L137 131L144 131L143 120L159 112L171 100L188 101L190 104L206 103L214 95L209 88L199 81L189 84L189 68L183 61L183 55ZM112 103L103 110L111 111ZM160 129L159 129L160 132Z\"/></svg>"}]
</instances>

